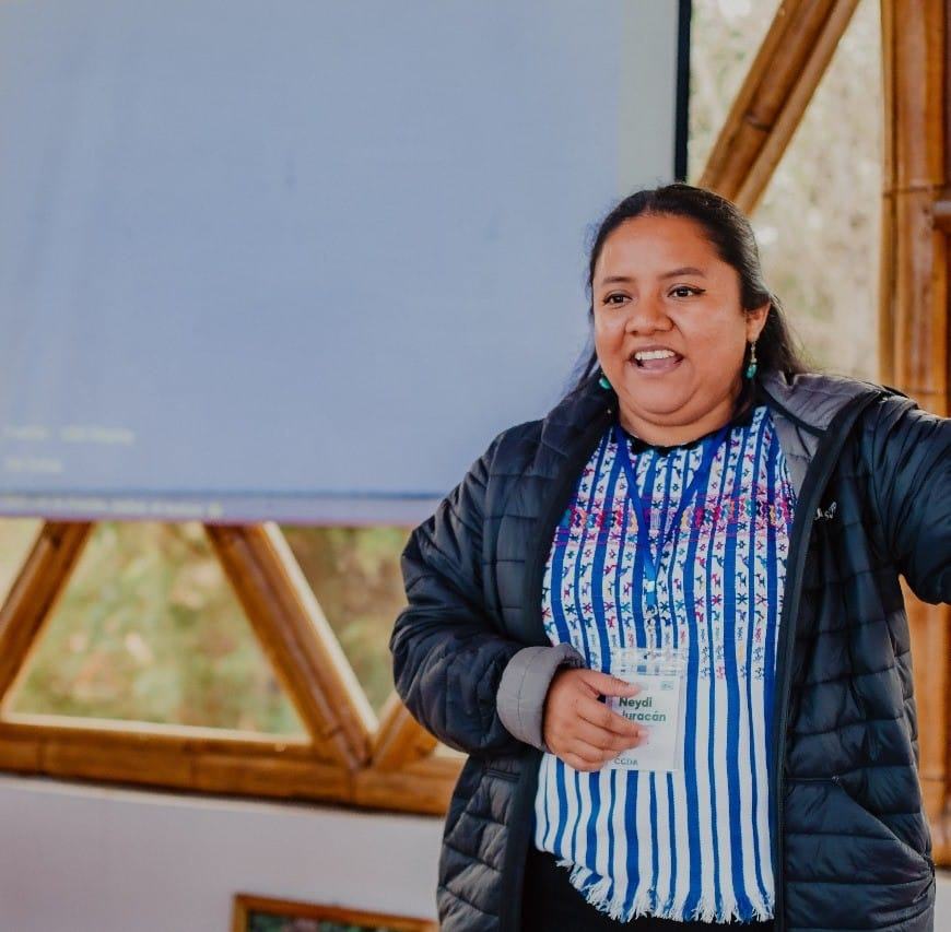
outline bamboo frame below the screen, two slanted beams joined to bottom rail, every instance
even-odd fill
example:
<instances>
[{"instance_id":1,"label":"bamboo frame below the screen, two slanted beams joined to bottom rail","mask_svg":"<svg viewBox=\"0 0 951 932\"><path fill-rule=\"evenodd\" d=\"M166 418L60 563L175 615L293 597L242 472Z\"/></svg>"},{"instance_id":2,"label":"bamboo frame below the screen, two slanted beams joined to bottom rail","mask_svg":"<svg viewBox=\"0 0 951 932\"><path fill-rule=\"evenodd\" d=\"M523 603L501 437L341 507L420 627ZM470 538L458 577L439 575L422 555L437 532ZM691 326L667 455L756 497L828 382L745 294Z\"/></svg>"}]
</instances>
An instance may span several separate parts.
<instances>
[{"instance_id":1,"label":"bamboo frame below the screen, two slanted beams joined to bottom rail","mask_svg":"<svg viewBox=\"0 0 951 932\"><path fill-rule=\"evenodd\" d=\"M9 710L90 523L46 522L0 607L0 768L226 793L442 812L458 760L391 697L366 700L280 529L207 524L251 629L306 736L114 722Z\"/></svg>"}]
</instances>

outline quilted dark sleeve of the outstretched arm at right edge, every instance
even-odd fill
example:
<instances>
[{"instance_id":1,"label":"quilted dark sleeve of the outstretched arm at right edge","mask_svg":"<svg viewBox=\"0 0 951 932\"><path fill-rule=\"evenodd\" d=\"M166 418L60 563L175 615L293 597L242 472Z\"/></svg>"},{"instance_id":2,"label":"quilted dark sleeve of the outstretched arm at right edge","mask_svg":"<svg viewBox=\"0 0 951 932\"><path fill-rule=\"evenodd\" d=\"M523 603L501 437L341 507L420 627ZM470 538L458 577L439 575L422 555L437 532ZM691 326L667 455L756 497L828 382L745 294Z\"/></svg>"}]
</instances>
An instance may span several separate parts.
<instances>
[{"instance_id":1,"label":"quilted dark sleeve of the outstretched arm at right edge","mask_svg":"<svg viewBox=\"0 0 951 932\"><path fill-rule=\"evenodd\" d=\"M919 599L951 602L951 418L897 398L871 414L866 436L885 541Z\"/></svg>"}]
</instances>

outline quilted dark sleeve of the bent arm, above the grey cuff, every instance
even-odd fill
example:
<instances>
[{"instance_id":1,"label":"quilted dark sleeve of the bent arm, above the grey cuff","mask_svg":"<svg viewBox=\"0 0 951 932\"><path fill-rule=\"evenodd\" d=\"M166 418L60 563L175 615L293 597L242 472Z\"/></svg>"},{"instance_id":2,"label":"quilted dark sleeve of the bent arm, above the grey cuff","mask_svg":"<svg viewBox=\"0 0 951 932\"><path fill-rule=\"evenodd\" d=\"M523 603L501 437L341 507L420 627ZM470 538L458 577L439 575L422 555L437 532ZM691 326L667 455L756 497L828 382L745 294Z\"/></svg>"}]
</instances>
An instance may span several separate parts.
<instances>
[{"instance_id":1,"label":"quilted dark sleeve of the bent arm, above the grey cuff","mask_svg":"<svg viewBox=\"0 0 951 932\"><path fill-rule=\"evenodd\" d=\"M523 645L494 627L482 598L485 486L502 435L476 461L402 553L408 606L390 639L396 688L413 717L468 754L515 753L496 692Z\"/></svg>"}]
</instances>

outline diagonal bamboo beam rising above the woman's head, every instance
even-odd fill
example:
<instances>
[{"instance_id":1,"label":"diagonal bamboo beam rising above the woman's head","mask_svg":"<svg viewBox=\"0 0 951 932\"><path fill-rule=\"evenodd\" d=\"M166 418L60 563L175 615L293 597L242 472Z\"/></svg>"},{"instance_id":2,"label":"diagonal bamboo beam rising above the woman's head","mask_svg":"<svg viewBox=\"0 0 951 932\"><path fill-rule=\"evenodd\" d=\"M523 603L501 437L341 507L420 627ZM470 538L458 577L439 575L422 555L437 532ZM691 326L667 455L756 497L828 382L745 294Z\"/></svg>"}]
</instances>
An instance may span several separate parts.
<instances>
[{"instance_id":1,"label":"diagonal bamboo beam rising above the woman's head","mask_svg":"<svg viewBox=\"0 0 951 932\"><path fill-rule=\"evenodd\" d=\"M714 143L700 185L751 213L858 0L783 0Z\"/></svg>"}]
</instances>

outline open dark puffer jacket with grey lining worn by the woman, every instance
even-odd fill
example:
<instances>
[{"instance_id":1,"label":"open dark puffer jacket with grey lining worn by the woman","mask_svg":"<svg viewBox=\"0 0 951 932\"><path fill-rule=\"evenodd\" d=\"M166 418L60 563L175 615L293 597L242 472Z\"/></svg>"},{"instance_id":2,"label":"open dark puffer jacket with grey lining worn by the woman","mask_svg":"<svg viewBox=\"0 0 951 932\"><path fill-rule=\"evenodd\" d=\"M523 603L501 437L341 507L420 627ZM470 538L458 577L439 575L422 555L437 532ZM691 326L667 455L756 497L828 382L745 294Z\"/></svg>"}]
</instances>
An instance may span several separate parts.
<instances>
[{"instance_id":1,"label":"open dark puffer jacket with grey lining worn by the woman","mask_svg":"<svg viewBox=\"0 0 951 932\"><path fill-rule=\"evenodd\" d=\"M925 601L951 601L951 420L829 376L767 374L760 391L798 493L774 709L776 928L926 932L935 869L899 575ZM470 755L446 818L444 932L520 924L540 757L526 741L539 743L528 735L553 672L536 661L556 650L545 647L542 573L615 404L591 381L543 421L505 430L403 552L397 688ZM545 682L505 718L515 732L513 721L535 719L519 740L498 694L506 670L532 654L517 679Z\"/></svg>"}]
</instances>

